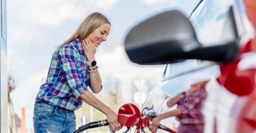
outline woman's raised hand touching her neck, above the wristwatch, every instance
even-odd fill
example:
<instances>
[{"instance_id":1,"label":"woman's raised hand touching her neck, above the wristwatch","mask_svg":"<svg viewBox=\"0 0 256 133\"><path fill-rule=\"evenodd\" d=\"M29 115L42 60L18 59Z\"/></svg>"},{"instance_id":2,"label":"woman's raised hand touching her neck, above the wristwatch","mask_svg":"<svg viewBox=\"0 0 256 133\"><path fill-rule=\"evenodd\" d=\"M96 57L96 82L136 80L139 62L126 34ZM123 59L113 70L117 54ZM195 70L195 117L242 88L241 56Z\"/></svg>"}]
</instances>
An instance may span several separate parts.
<instances>
[{"instance_id":1,"label":"woman's raised hand touching her neck, above the wristwatch","mask_svg":"<svg viewBox=\"0 0 256 133\"><path fill-rule=\"evenodd\" d=\"M95 60L96 47L88 37L82 40L83 52L88 61Z\"/></svg>"}]
</instances>

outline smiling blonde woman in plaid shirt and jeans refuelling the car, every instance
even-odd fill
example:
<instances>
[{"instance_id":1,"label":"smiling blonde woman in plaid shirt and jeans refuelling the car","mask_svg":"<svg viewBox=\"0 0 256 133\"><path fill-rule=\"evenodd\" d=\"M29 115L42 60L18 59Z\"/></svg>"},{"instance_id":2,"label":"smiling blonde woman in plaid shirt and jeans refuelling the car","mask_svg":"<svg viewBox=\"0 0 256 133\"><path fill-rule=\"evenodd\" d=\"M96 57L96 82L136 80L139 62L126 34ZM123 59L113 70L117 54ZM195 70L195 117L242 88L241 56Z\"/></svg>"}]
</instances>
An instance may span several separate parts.
<instances>
[{"instance_id":1,"label":"smiling blonde woman in plaid shirt and jeans refuelling the car","mask_svg":"<svg viewBox=\"0 0 256 133\"><path fill-rule=\"evenodd\" d=\"M109 32L109 20L95 12L56 49L47 81L36 96L33 117L36 133L74 132L74 110L79 109L83 101L103 112L114 131L122 128L117 114L88 91L88 85L93 93L102 89L94 56L96 48L106 41Z\"/></svg>"}]
</instances>

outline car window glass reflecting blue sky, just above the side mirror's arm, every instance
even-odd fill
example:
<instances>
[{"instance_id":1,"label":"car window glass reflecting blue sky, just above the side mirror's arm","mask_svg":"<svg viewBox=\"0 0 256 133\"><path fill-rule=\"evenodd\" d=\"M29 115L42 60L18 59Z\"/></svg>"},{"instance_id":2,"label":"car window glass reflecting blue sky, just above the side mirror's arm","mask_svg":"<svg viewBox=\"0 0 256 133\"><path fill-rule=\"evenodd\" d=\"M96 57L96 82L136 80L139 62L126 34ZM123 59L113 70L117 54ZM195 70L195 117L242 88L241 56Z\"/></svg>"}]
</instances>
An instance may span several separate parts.
<instances>
[{"instance_id":1,"label":"car window glass reflecting blue sky, just above the side mirror's arm","mask_svg":"<svg viewBox=\"0 0 256 133\"><path fill-rule=\"evenodd\" d=\"M228 11L234 0L203 1L190 17L197 39L202 45L210 46L229 41L223 36Z\"/></svg>"}]
</instances>

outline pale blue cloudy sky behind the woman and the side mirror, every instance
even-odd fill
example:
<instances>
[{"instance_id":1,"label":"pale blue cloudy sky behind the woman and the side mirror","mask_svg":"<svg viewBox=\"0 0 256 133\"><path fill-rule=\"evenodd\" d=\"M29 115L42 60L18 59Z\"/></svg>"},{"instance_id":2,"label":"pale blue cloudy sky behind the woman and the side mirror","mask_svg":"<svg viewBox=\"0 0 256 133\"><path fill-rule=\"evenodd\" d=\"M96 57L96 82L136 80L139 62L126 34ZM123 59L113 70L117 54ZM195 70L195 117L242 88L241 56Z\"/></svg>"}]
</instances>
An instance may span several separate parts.
<instances>
[{"instance_id":1,"label":"pale blue cloudy sky behind the woman and the side mirror","mask_svg":"<svg viewBox=\"0 0 256 133\"><path fill-rule=\"evenodd\" d=\"M11 93L14 112L26 107L26 125L33 128L36 94L47 77L55 48L63 43L92 12L103 13L111 22L107 41L96 52L102 81L118 78L124 102L131 101L133 79L159 82L165 65L142 66L130 62L123 41L135 24L150 16L177 9L189 16L199 0L12 0L7 2L8 72L16 81ZM104 84L103 84L104 86ZM104 89L104 88L103 88Z\"/></svg>"}]
</instances>

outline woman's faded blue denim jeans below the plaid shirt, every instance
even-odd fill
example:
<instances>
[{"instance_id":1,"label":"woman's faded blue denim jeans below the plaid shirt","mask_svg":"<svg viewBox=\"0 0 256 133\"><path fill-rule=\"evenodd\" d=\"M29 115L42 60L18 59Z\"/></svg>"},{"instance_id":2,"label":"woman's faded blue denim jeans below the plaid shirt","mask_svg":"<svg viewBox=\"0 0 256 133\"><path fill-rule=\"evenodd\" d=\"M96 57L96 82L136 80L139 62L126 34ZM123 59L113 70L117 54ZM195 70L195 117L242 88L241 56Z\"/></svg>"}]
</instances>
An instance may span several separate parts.
<instances>
[{"instance_id":1,"label":"woman's faded blue denim jeans below the plaid shirt","mask_svg":"<svg viewBox=\"0 0 256 133\"><path fill-rule=\"evenodd\" d=\"M73 111L44 103L35 103L35 133L73 133L76 130L76 116Z\"/></svg>"}]
</instances>

